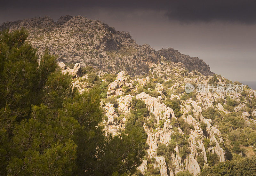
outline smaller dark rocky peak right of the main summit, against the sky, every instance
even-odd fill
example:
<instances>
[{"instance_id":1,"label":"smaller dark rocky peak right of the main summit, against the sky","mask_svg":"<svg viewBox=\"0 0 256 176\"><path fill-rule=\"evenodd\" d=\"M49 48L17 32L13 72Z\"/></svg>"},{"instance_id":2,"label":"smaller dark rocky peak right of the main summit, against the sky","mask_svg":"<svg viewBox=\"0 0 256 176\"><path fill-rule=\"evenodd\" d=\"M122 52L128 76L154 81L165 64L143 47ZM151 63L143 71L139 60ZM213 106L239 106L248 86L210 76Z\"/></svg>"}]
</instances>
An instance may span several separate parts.
<instances>
[{"instance_id":1,"label":"smaller dark rocky peak right of the main summit, against the sky","mask_svg":"<svg viewBox=\"0 0 256 176\"><path fill-rule=\"evenodd\" d=\"M198 70L203 75L213 74L209 65L207 65L203 60L198 59L198 57L189 57L181 54L178 50L174 50L173 48L161 49L158 53L159 55L164 56L166 60L183 63L188 71Z\"/></svg>"}]
</instances>

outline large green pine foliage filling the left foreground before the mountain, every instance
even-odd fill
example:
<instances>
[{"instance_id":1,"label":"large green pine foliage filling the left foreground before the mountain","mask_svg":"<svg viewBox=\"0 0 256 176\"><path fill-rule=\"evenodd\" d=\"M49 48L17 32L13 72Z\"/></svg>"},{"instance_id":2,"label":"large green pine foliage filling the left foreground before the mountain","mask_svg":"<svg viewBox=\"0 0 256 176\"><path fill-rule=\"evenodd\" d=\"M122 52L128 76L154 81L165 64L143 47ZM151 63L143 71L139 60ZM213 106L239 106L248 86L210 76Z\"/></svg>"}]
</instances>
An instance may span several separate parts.
<instances>
[{"instance_id":1,"label":"large green pine foliage filling the left foreground before the mountain","mask_svg":"<svg viewBox=\"0 0 256 176\"><path fill-rule=\"evenodd\" d=\"M27 36L23 29L0 33L0 175L134 173L145 155L138 120L148 113L145 104L135 104L124 132L106 137L102 92L72 90L71 77L56 69L47 49L37 63ZM106 86L93 72L88 80Z\"/></svg>"}]
</instances>

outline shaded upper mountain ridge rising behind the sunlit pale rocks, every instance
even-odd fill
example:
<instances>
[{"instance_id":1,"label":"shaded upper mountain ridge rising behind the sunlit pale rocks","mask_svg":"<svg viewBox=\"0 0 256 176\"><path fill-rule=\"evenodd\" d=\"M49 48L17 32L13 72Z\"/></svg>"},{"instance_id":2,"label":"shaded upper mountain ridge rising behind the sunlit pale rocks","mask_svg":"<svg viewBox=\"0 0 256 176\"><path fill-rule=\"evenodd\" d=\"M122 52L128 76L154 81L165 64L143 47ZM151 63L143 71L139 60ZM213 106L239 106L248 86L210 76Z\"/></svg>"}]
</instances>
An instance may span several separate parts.
<instances>
[{"instance_id":1,"label":"shaded upper mountain ridge rising behind the sunlit pale rocks","mask_svg":"<svg viewBox=\"0 0 256 176\"><path fill-rule=\"evenodd\" d=\"M49 16L7 22L0 30L24 27L30 33L28 40L44 52L45 46L52 54L58 55L58 61L67 65L81 63L102 71L118 73L125 70L131 76L147 75L153 63L166 60L181 62L184 68L198 70L204 75L212 75L210 67L198 58L190 58L172 48L156 52L149 45L136 44L129 33L116 31L99 20L88 20L83 16L62 16L54 22Z\"/></svg>"}]
</instances>

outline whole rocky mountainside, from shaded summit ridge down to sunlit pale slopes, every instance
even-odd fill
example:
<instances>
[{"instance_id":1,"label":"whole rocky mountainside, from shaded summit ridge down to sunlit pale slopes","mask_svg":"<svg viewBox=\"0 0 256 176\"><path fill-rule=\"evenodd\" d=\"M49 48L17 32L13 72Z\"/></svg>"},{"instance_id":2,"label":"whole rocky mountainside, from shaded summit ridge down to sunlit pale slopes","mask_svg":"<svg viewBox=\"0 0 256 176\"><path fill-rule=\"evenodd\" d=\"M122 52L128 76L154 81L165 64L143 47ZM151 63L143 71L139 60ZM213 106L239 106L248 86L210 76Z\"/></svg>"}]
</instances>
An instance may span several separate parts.
<instances>
[{"instance_id":1,"label":"whole rocky mountainside, from shaded summit ridge down to sunlit pale slopes","mask_svg":"<svg viewBox=\"0 0 256 176\"><path fill-rule=\"evenodd\" d=\"M140 46L129 33L82 16L19 20L0 29L22 27L38 54L47 46L58 55L79 93L100 88L106 133L141 127L147 154L133 176L195 176L255 155L256 91L246 85L236 91L240 83L214 74L203 60ZM195 89L187 93L188 84Z\"/></svg>"}]
</instances>

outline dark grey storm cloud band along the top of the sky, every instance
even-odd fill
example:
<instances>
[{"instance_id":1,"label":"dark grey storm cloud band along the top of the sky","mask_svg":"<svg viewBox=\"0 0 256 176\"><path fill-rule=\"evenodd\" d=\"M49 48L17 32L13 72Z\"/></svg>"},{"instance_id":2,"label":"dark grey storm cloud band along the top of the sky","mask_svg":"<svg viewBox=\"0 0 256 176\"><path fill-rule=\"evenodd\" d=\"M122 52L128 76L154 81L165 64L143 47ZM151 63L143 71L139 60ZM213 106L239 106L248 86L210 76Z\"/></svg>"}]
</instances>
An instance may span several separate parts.
<instances>
[{"instance_id":1,"label":"dark grey storm cloud band along the top of the sky","mask_svg":"<svg viewBox=\"0 0 256 176\"><path fill-rule=\"evenodd\" d=\"M227 21L245 24L256 23L256 1L255 0L170 0L170 1L116 1L116 0L94 0L94 1L5 1L0 7L29 10L75 10L77 8L106 8L116 10L158 10L164 11L170 20L180 22L209 22Z\"/></svg>"}]
</instances>

